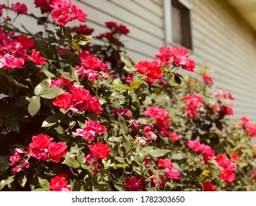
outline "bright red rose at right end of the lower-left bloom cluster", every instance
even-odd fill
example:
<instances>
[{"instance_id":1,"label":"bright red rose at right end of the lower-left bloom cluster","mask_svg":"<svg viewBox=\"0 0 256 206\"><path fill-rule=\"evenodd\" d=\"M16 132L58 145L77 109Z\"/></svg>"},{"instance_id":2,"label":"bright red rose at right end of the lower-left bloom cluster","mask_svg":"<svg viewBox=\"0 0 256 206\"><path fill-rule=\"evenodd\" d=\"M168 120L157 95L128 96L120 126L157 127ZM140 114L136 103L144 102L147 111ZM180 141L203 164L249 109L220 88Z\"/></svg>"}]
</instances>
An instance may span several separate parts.
<instances>
[{"instance_id":1,"label":"bright red rose at right end of the lower-left bloom cluster","mask_svg":"<svg viewBox=\"0 0 256 206\"><path fill-rule=\"evenodd\" d=\"M50 142L49 143L49 154L52 161L55 163L60 162L60 157L63 157L67 152L65 149L67 148L67 145L62 142Z\"/></svg>"}]
</instances>

